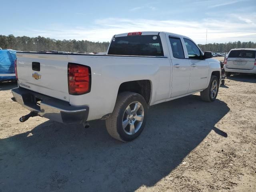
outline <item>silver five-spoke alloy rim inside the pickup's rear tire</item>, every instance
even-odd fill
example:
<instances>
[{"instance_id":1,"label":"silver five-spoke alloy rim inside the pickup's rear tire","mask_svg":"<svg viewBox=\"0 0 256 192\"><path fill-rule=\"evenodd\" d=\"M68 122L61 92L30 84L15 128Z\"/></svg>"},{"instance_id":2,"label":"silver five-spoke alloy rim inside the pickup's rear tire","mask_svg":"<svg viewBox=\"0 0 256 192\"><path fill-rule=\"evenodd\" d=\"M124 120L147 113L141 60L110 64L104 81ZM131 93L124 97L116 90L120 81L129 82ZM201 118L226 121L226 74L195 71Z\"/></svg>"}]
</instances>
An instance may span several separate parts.
<instances>
[{"instance_id":1,"label":"silver five-spoke alloy rim inside the pickup's rear tire","mask_svg":"<svg viewBox=\"0 0 256 192\"><path fill-rule=\"evenodd\" d=\"M128 135L133 135L138 130L140 130L140 127L142 126L144 119L144 108L142 104L138 101L134 101L130 103L123 115L123 130Z\"/></svg>"}]
</instances>

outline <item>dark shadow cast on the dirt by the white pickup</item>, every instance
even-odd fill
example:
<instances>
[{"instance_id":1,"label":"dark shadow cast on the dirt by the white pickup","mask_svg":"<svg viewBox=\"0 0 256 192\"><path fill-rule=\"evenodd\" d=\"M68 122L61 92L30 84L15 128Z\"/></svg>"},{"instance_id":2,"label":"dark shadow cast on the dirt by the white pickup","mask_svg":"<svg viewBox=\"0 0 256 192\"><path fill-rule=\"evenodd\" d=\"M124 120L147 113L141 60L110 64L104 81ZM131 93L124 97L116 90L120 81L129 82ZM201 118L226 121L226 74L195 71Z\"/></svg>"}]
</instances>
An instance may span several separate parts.
<instances>
[{"instance_id":1,"label":"dark shadow cast on the dirt by the white pickup","mask_svg":"<svg viewBox=\"0 0 256 192\"><path fill-rule=\"evenodd\" d=\"M134 191L168 175L228 113L226 103L192 95L150 108L140 137L112 139L104 121L91 128L47 121L0 140L2 191ZM29 120L28 120L29 121ZM220 135L220 136L219 136Z\"/></svg>"}]
</instances>

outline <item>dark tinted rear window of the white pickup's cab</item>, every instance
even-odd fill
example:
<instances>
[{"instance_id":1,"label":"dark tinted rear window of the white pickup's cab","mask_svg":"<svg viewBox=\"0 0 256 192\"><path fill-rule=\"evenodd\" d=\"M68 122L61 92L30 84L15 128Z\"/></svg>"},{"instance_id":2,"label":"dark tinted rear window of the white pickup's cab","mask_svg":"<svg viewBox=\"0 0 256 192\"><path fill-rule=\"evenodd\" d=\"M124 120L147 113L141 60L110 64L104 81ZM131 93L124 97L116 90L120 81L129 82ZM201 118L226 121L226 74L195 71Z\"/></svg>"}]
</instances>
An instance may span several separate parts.
<instances>
[{"instance_id":1,"label":"dark tinted rear window of the white pickup's cab","mask_svg":"<svg viewBox=\"0 0 256 192\"><path fill-rule=\"evenodd\" d=\"M116 37L112 40L108 54L134 56L164 56L159 35L135 35Z\"/></svg>"}]
</instances>

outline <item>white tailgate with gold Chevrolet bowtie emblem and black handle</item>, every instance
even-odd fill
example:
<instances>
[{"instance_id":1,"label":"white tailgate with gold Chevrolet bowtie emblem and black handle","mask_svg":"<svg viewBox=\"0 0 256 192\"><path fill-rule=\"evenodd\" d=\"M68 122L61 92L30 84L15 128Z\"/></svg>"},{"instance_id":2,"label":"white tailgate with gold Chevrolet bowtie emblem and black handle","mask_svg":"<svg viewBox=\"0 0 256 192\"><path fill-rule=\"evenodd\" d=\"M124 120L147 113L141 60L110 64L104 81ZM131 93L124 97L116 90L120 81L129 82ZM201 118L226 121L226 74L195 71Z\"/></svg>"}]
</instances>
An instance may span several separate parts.
<instances>
[{"instance_id":1,"label":"white tailgate with gold Chevrolet bowtie emblem and black handle","mask_svg":"<svg viewBox=\"0 0 256 192\"><path fill-rule=\"evenodd\" d=\"M67 55L17 53L17 73L20 87L69 101Z\"/></svg>"}]
</instances>

